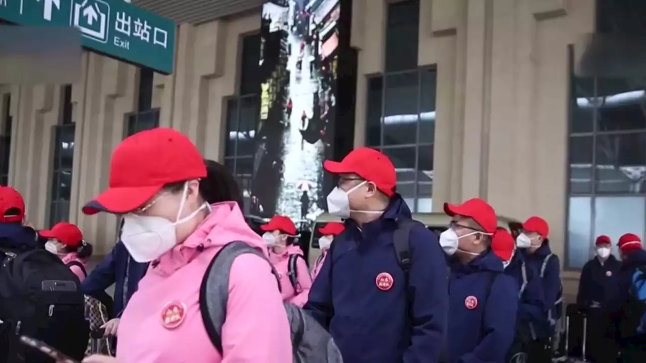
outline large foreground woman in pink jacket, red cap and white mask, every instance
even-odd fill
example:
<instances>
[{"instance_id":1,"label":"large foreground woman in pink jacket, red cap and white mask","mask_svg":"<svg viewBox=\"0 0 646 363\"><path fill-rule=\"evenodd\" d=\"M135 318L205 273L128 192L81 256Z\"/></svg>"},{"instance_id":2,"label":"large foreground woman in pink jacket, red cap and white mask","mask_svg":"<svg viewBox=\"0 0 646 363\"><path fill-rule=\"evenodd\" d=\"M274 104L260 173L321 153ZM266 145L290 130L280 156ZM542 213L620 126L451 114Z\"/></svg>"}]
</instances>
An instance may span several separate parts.
<instances>
[{"instance_id":1,"label":"large foreground woman in pink jacket, red cap and white mask","mask_svg":"<svg viewBox=\"0 0 646 363\"><path fill-rule=\"evenodd\" d=\"M216 253L233 241L266 251L238 203L210 204L222 200L216 186L225 177L176 130L141 131L116 147L109 188L83 213L122 214L123 244L134 260L151 264L121 316L116 359L85 362L292 362L276 277L260 256L241 254L231 266L222 354L202 320L200 285Z\"/></svg>"}]
</instances>

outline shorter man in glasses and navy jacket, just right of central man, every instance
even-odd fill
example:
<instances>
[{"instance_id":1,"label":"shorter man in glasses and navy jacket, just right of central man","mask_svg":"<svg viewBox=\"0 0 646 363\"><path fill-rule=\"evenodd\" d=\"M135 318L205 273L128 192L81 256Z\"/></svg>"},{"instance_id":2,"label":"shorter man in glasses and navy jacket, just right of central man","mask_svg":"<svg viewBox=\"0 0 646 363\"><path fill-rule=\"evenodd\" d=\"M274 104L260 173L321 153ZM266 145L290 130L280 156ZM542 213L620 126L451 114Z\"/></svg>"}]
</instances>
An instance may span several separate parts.
<instances>
[{"instance_id":1,"label":"shorter man in glasses and navy jacket, just right of central man","mask_svg":"<svg viewBox=\"0 0 646 363\"><path fill-rule=\"evenodd\" d=\"M495 211L473 198L444 203L444 212L452 217L440 235L440 245L452 255L449 362L503 363L516 336L519 287L490 248L497 233Z\"/></svg>"}]
</instances>

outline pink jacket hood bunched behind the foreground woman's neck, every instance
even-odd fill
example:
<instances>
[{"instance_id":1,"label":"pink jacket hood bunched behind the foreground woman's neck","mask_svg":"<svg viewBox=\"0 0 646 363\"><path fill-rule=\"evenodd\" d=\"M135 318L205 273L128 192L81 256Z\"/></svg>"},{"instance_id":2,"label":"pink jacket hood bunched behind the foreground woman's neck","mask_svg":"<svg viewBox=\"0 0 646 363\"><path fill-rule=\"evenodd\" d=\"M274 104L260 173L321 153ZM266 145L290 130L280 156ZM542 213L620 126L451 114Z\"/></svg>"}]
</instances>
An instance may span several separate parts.
<instances>
[{"instance_id":1,"label":"pink jacket hood bunched behind the foreground woman's neck","mask_svg":"<svg viewBox=\"0 0 646 363\"><path fill-rule=\"evenodd\" d=\"M210 247L223 247L229 242L242 241L267 256L264 240L247 225L236 202L211 205L211 213L182 244L163 254L157 261L156 270L172 273L193 260L197 253Z\"/></svg>"}]
</instances>

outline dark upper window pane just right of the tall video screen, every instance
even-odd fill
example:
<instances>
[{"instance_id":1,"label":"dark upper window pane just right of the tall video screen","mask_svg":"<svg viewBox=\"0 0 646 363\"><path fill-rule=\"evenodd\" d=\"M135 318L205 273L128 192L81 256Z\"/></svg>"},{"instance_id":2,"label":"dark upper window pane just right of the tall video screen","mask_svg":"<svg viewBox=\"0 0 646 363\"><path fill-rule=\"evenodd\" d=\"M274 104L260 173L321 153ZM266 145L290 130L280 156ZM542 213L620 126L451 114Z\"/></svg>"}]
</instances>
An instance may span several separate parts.
<instances>
[{"instance_id":1,"label":"dark upper window pane just right of the tall video screen","mask_svg":"<svg viewBox=\"0 0 646 363\"><path fill-rule=\"evenodd\" d=\"M388 5L386 72L417 68L419 0Z\"/></svg>"}]
</instances>

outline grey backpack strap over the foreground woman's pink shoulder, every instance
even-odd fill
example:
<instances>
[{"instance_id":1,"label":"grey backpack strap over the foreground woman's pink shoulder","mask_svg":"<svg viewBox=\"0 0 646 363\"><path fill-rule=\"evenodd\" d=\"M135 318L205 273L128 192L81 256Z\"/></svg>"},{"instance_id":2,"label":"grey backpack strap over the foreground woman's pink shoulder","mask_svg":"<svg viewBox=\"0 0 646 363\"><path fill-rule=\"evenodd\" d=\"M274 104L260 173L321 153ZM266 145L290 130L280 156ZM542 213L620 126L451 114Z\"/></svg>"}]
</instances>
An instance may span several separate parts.
<instances>
[{"instance_id":1,"label":"grey backpack strap over the foreground woman's pink shoulder","mask_svg":"<svg viewBox=\"0 0 646 363\"><path fill-rule=\"evenodd\" d=\"M222 247L215 254L200 285L200 312L207 334L220 354L222 354L222 326L224 326L227 316L229 273L235 258L245 253L255 254L267 261L267 264L271 266L271 272L276 276L278 289L280 289L280 279L273 265L262 252L251 245L242 241L234 241Z\"/></svg>"}]
</instances>

